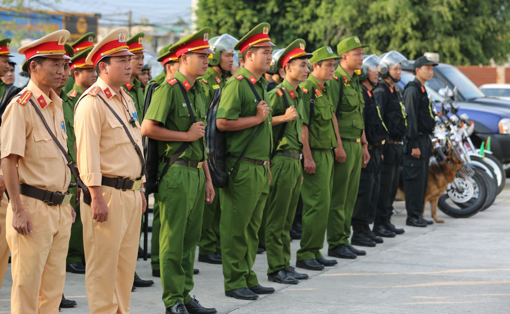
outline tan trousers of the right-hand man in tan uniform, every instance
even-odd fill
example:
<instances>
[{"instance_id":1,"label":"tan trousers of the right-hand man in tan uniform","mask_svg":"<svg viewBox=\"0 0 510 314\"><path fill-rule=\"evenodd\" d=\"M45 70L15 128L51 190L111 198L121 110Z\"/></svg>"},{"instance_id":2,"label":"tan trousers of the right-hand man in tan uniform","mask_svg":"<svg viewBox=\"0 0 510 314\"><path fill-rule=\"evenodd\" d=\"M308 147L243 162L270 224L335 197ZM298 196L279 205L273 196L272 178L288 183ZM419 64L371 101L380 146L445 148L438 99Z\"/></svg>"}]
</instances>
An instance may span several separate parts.
<instances>
[{"instance_id":1,"label":"tan trousers of the right-hand man in tan uniform","mask_svg":"<svg viewBox=\"0 0 510 314\"><path fill-rule=\"evenodd\" d=\"M108 220L92 219L90 206L81 203L85 285L91 314L130 312L142 218L140 191L101 186Z\"/></svg>"}]
</instances>

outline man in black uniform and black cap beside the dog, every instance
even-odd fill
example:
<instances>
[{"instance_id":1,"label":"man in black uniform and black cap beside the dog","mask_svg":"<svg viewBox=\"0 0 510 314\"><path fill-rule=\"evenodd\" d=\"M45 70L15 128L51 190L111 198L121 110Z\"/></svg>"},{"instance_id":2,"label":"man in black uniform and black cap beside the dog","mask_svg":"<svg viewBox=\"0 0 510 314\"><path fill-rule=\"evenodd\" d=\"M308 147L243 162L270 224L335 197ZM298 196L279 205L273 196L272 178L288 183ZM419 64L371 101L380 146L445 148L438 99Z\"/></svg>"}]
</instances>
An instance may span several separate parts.
<instances>
[{"instance_id":1,"label":"man in black uniform and black cap beside the dog","mask_svg":"<svg viewBox=\"0 0 510 314\"><path fill-rule=\"evenodd\" d=\"M407 210L405 224L414 227L426 227L428 224L421 214L427 189L428 163L432 153L429 135L432 134L436 121L424 84L432 79L433 67L437 65L425 56L420 56L413 65L416 77L407 83L404 89L404 105L407 111L407 131L402 149L402 178Z\"/></svg>"}]
</instances>

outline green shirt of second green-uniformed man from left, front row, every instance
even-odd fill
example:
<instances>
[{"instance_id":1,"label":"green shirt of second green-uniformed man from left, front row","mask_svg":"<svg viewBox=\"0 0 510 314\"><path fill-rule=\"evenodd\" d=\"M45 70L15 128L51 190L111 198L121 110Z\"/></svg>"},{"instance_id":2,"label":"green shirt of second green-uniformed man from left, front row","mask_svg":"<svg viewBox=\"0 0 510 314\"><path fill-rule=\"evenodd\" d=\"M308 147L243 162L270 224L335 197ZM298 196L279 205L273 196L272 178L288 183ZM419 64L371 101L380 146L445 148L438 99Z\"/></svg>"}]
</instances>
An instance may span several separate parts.
<instances>
[{"instance_id":1,"label":"green shirt of second green-uniformed man from left, front row","mask_svg":"<svg viewBox=\"0 0 510 314\"><path fill-rule=\"evenodd\" d=\"M248 82L241 76L247 77L252 81L255 90L271 108L269 96L266 91L266 79L264 77L257 79L250 71L242 67L239 68L236 75L227 81L221 93L216 119L225 118L238 120L239 117L251 117L256 115L259 101L255 95L253 95L253 91L249 87ZM248 144L248 141L253 136L243 157L257 160L269 160L273 144L271 120L272 116L271 112L269 112L266 121L262 123L260 129L254 136L253 133L258 125L240 131L225 132L226 153L239 157Z\"/></svg>"}]
</instances>

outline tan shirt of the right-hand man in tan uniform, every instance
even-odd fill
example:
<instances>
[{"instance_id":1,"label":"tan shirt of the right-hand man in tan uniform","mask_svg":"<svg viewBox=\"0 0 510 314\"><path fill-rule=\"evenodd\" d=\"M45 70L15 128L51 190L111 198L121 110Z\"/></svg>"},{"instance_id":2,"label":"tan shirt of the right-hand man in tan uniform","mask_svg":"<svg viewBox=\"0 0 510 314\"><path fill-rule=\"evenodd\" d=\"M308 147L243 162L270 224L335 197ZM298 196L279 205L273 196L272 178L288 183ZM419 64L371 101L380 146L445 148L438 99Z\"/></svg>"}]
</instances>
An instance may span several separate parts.
<instances>
[{"instance_id":1,"label":"tan shirt of the right-hand man in tan uniform","mask_svg":"<svg viewBox=\"0 0 510 314\"><path fill-rule=\"evenodd\" d=\"M134 116L133 112L136 112L131 96L123 89L120 89L120 95L116 94L99 77L74 107L74 133L78 149L76 156L83 183L87 186L100 186L103 176L130 180L140 178L142 163L135 147L112 111L101 98L94 95L100 95L108 102L142 148L138 120L135 119L136 127L129 123ZM142 181L145 182L145 177Z\"/></svg>"}]
</instances>

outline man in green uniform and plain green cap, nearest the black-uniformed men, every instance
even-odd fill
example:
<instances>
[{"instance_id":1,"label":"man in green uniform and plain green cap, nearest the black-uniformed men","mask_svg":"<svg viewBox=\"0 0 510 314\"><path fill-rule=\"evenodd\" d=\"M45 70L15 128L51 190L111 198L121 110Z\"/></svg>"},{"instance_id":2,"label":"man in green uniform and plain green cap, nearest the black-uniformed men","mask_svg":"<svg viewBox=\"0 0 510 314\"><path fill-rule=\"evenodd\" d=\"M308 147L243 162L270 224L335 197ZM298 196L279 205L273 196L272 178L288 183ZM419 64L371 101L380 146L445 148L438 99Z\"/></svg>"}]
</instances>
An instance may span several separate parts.
<instances>
[{"instance_id":1,"label":"man in green uniform and plain green cap, nearest the black-uniformed men","mask_svg":"<svg viewBox=\"0 0 510 314\"><path fill-rule=\"evenodd\" d=\"M358 76L363 64L363 48L366 46L361 44L357 36L342 40L337 45L342 60L334 79L329 82L341 138L335 150L337 162L333 170L334 192L327 222L327 243L328 255L341 259L355 259L356 255L363 254L363 251L350 245L349 236L361 166L366 166L370 158L362 114L364 100Z\"/></svg>"}]
</instances>

